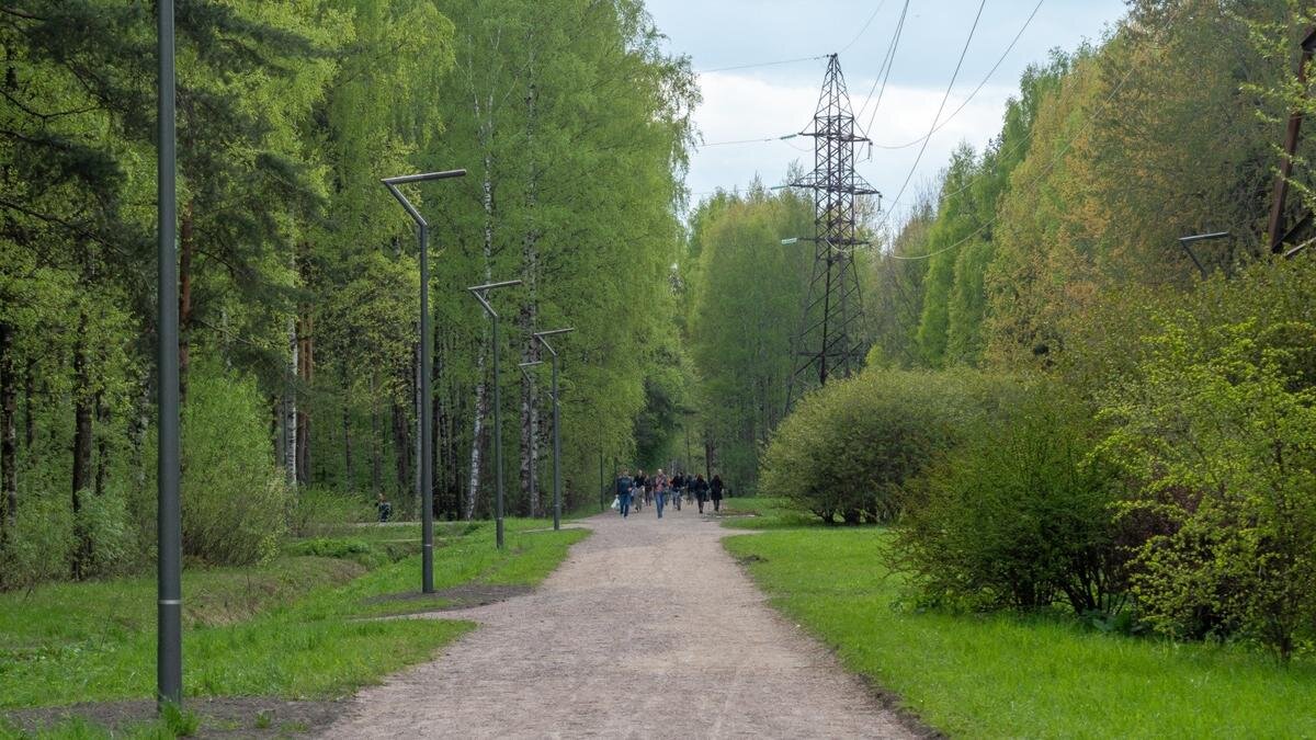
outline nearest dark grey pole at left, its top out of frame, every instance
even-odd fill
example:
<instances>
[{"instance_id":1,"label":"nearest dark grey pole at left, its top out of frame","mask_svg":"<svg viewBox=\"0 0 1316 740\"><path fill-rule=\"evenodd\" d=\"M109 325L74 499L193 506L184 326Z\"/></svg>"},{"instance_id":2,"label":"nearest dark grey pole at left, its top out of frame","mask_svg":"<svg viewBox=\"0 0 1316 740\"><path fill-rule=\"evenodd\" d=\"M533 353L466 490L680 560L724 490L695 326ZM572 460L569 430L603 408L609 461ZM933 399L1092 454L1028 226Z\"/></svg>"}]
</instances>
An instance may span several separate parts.
<instances>
[{"instance_id":1,"label":"nearest dark grey pole at left, its top out of frame","mask_svg":"<svg viewBox=\"0 0 1316 740\"><path fill-rule=\"evenodd\" d=\"M157 17L159 54L159 158L157 159L157 219L159 371L157 411L155 537L155 700L157 707L183 702L183 524L179 506L178 415L178 192L174 121L174 0L161 0Z\"/></svg>"}]
</instances>

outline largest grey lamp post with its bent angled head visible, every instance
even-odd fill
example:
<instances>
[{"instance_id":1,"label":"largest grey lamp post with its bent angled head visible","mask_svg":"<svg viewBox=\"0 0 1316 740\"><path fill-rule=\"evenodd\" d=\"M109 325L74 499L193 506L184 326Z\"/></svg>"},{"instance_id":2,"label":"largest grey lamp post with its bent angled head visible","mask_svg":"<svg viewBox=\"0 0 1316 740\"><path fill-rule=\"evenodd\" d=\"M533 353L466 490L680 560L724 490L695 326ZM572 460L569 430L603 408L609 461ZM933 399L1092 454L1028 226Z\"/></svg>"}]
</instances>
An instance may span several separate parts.
<instances>
[{"instance_id":1,"label":"largest grey lamp post with its bent angled head visible","mask_svg":"<svg viewBox=\"0 0 1316 740\"><path fill-rule=\"evenodd\" d=\"M425 172L384 178L384 187L401 203L407 215L416 221L420 232L420 490L421 490L421 591L434 593L434 406L430 400L430 341L429 330L429 223L416 211L397 186L461 178L466 170Z\"/></svg>"}]
</instances>

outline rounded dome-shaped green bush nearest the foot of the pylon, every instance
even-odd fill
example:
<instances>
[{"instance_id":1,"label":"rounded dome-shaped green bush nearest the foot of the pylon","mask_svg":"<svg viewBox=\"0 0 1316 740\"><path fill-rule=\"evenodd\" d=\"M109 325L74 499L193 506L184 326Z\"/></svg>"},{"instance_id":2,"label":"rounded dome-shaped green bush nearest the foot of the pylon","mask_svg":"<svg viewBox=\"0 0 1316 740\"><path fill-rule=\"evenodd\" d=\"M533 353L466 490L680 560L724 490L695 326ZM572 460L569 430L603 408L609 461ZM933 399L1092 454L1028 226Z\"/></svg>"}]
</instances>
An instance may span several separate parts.
<instances>
[{"instance_id":1,"label":"rounded dome-shaped green bush nearest the foot of the pylon","mask_svg":"<svg viewBox=\"0 0 1316 740\"><path fill-rule=\"evenodd\" d=\"M824 521L890 521L900 492L996 403L1001 379L975 371L869 369L800 402L763 454L763 496Z\"/></svg>"}]
</instances>

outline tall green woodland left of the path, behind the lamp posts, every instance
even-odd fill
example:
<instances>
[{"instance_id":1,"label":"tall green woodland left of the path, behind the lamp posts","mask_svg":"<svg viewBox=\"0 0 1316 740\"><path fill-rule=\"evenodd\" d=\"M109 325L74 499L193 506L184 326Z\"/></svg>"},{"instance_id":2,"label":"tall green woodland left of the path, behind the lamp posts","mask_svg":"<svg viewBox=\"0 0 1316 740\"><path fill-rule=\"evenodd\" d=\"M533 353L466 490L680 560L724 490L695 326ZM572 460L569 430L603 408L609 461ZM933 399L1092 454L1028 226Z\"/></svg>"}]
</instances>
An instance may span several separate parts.
<instances>
[{"instance_id":1,"label":"tall green woodland left of the path, behind the lamp posts","mask_svg":"<svg viewBox=\"0 0 1316 740\"><path fill-rule=\"evenodd\" d=\"M532 330L575 328L557 341L567 507L636 450L641 412L657 419L641 444L670 444L697 92L638 0L176 14L188 556L263 557L308 519L308 490L418 512L416 238L382 176L468 170L408 188L432 223L440 515L491 511L492 348L471 284L524 282L495 296L512 512L544 512L550 481L547 375L505 370L547 359ZM9 3L0 47L5 589L151 556L154 5Z\"/></svg>"}]
</instances>

